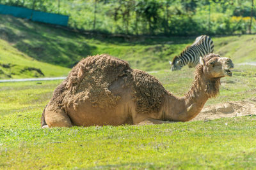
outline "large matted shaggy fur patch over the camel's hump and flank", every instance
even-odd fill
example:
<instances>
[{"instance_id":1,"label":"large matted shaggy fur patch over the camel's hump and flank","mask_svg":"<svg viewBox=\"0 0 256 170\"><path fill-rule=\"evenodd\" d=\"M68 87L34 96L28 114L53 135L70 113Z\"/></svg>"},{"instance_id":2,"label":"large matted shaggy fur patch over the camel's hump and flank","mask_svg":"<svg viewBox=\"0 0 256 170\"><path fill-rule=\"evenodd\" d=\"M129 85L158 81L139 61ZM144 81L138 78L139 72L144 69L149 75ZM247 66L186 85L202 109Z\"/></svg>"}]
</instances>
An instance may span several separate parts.
<instances>
[{"instance_id":1,"label":"large matted shaggy fur patch over the camel's hump and flank","mask_svg":"<svg viewBox=\"0 0 256 170\"><path fill-rule=\"evenodd\" d=\"M96 55L81 60L68 76L65 104L74 104L75 110L79 101L90 101L93 107L115 107L120 97L114 96L108 87L129 69L127 62L109 55Z\"/></svg>"}]
</instances>

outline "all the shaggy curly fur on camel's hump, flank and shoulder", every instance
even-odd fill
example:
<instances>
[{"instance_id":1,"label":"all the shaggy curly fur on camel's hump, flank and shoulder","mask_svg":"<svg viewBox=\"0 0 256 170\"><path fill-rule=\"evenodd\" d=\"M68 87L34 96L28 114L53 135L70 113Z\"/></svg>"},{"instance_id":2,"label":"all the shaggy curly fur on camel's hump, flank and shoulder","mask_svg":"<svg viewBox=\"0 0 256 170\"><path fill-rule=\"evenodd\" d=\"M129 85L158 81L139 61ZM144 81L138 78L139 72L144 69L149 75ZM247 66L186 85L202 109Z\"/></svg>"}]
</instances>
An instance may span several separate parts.
<instances>
[{"instance_id":1,"label":"all the shaggy curly fur on camel's hump, flank and shoulder","mask_svg":"<svg viewBox=\"0 0 256 170\"><path fill-rule=\"evenodd\" d=\"M114 96L108 87L124 75L127 76L127 81L133 82L138 111L159 111L163 94L166 93L161 83L143 71L132 70L124 60L109 55L87 57L77 64L68 76L68 94L65 94L64 104L68 107L74 104L76 110L79 102L90 101L93 107L113 108L120 96Z\"/></svg>"}]
</instances>

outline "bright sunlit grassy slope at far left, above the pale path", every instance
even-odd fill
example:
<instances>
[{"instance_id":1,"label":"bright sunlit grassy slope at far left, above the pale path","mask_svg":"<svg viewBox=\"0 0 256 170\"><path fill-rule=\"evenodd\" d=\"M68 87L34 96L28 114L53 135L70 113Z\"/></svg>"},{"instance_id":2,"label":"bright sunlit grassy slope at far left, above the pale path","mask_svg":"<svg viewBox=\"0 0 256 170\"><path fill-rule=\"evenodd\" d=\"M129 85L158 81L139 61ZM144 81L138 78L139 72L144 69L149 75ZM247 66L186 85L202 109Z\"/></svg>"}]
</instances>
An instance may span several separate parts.
<instances>
[{"instance_id":1,"label":"bright sunlit grassy slope at far left, above the pale path","mask_svg":"<svg viewBox=\"0 0 256 170\"><path fill-rule=\"evenodd\" d=\"M0 78L65 76L69 69L29 57L0 39Z\"/></svg>"}]
</instances>

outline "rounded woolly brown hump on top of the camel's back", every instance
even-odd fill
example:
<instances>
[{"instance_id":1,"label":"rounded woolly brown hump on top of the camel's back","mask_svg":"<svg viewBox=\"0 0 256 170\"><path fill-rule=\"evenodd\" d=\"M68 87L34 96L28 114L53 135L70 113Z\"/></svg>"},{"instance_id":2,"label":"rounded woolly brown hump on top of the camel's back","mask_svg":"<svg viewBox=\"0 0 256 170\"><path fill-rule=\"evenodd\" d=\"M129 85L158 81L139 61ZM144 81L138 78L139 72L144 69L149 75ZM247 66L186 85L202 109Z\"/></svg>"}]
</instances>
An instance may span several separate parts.
<instances>
[{"instance_id":1,"label":"rounded woolly brown hump on top of the camel's back","mask_svg":"<svg viewBox=\"0 0 256 170\"><path fill-rule=\"evenodd\" d=\"M82 81L85 80L95 81L95 83L111 83L118 76L122 76L123 72L129 68L127 62L111 55L89 56L78 62L70 71L67 86L68 88L75 86L79 88Z\"/></svg>"}]
</instances>

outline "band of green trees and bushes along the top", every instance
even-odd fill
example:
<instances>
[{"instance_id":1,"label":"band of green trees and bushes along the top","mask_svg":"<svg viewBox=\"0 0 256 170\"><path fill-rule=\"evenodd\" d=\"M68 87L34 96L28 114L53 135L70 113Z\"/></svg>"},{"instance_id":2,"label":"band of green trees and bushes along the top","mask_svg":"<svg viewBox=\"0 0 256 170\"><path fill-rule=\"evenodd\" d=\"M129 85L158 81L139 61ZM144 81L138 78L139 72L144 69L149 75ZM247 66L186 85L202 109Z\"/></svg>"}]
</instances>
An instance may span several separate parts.
<instances>
[{"instance_id":1,"label":"band of green trees and bushes along the top","mask_svg":"<svg viewBox=\"0 0 256 170\"><path fill-rule=\"evenodd\" d=\"M87 31L172 36L244 34L250 28L256 32L255 20L250 25L250 20L232 19L251 15L255 18L252 0L2 0L0 3L69 15L70 27Z\"/></svg>"}]
</instances>

